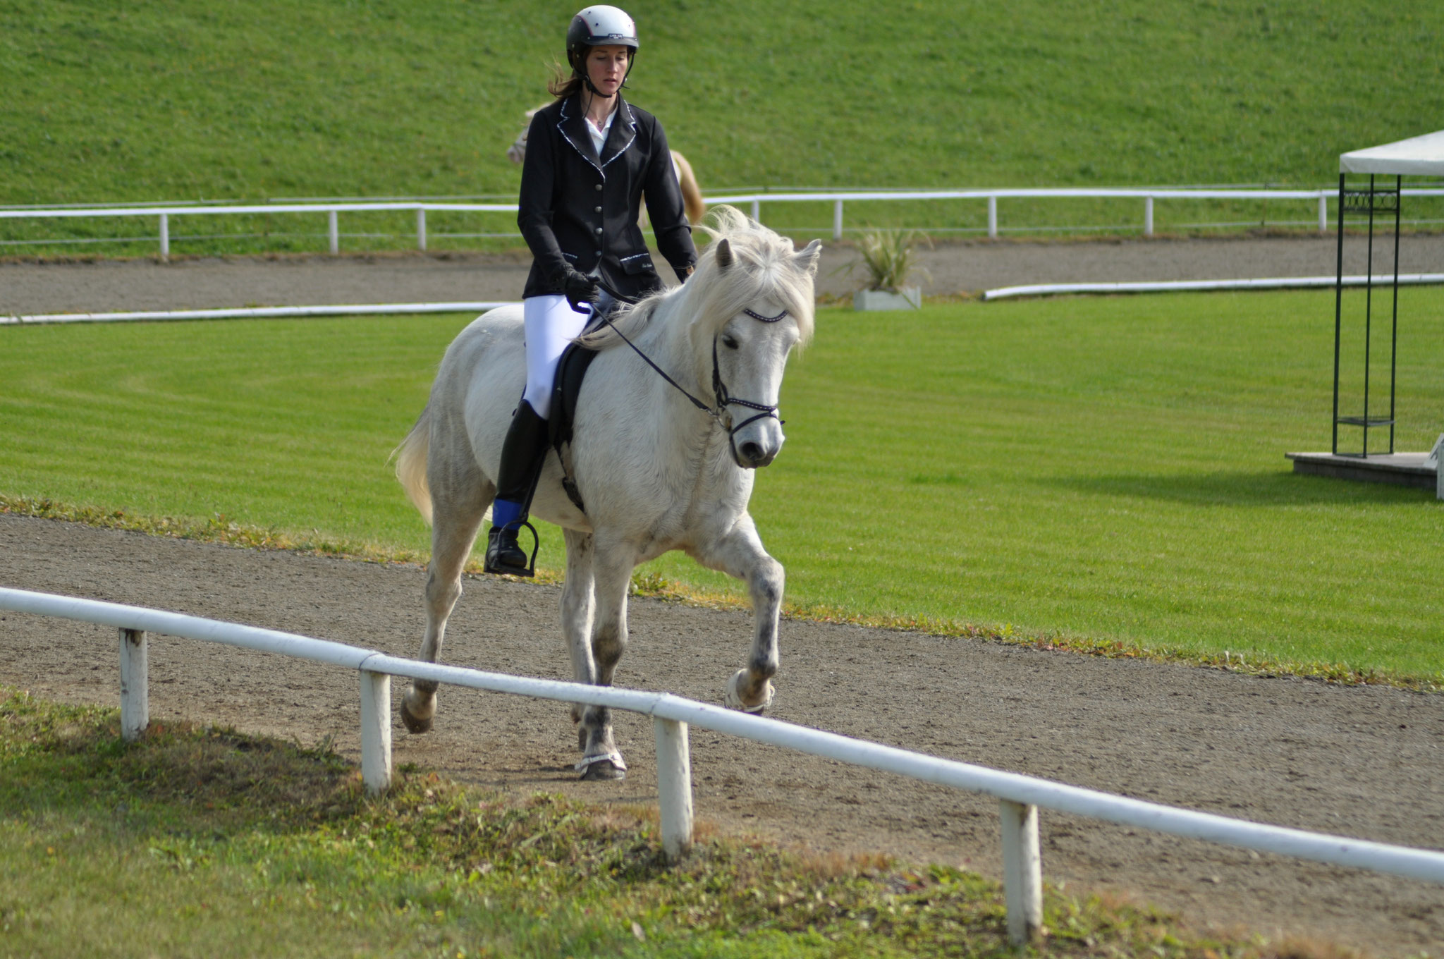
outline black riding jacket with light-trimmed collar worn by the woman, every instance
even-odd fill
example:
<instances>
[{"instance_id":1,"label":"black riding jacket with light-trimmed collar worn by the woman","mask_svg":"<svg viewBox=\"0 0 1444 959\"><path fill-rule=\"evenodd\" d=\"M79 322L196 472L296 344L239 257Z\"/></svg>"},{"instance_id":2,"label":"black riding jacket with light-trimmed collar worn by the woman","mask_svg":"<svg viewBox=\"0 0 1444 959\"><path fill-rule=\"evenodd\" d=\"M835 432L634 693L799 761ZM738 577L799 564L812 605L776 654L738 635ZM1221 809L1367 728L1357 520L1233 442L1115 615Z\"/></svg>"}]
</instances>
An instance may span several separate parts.
<instances>
[{"instance_id":1,"label":"black riding jacket with light-trimmed collar worn by the woman","mask_svg":"<svg viewBox=\"0 0 1444 959\"><path fill-rule=\"evenodd\" d=\"M601 264L602 282L622 296L658 289L661 279L637 227L644 191L658 251L686 270L697 261L697 248L657 118L619 101L598 156L580 94L539 110L527 133L517 211L533 256L521 295L562 293L567 264L582 273Z\"/></svg>"}]
</instances>

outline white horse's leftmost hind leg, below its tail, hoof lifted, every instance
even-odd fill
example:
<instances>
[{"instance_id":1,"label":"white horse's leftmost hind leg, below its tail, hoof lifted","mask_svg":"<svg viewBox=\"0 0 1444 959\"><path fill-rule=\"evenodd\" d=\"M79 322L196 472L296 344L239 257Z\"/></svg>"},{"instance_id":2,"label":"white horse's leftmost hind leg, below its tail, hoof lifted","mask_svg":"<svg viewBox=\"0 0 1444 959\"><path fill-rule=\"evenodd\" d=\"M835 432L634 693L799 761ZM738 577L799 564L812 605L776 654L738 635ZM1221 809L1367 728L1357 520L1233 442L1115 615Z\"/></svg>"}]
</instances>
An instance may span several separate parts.
<instances>
[{"instance_id":1,"label":"white horse's leftmost hind leg, below its tail, hoof lifted","mask_svg":"<svg viewBox=\"0 0 1444 959\"><path fill-rule=\"evenodd\" d=\"M435 663L446 638L446 620L461 598L461 572L481 529L481 517L495 487L479 471L432 484L432 562L426 568L426 637L420 659ZM412 680L401 699L401 722L412 732L427 732L436 715L436 683Z\"/></svg>"}]
</instances>

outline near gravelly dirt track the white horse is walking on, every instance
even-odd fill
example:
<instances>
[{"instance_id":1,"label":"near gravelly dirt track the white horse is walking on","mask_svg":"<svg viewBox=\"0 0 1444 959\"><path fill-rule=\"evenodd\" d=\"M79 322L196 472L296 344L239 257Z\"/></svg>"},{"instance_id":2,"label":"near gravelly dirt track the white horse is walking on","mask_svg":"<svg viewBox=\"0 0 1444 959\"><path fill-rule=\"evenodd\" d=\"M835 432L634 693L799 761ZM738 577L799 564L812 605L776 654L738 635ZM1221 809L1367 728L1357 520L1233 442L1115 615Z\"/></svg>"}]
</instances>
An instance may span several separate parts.
<instances>
[{"instance_id":1,"label":"near gravelly dirt track the white horse is walking on","mask_svg":"<svg viewBox=\"0 0 1444 959\"><path fill-rule=\"evenodd\" d=\"M0 585L159 607L413 656L423 570L251 552L0 514ZM567 679L550 586L469 578L443 660ZM634 601L618 683L718 702L749 617ZM113 630L0 614L0 682L116 703ZM788 621L773 715L1139 799L1444 848L1444 696L1256 679L969 640ZM231 724L357 755L347 670L155 637L152 718ZM400 682L393 687L399 702ZM650 724L618 713L624 783L578 783L557 703L443 689L436 731L394 726L396 763L514 794L656 797ZM696 731L699 819L817 852L887 851L999 874L979 796ZM1444 955L1444 888L1041 813L1043 869L1194 927L1292 933L1379 956Z\"/></svg>"}]
</instances>

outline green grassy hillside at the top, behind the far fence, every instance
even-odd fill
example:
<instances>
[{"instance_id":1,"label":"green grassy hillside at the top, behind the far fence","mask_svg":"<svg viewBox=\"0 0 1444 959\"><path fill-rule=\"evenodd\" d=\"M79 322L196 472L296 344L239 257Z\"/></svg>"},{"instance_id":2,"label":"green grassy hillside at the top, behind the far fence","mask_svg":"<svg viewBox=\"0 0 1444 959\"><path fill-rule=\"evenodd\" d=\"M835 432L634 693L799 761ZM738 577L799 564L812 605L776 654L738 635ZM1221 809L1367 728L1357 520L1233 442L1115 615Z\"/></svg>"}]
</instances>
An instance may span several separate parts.
<instances>
[{"instance_id":1,"label":"green grassy hillside at the top, behind the far fence","mask_svg":"<svg viewBox=\"0 0 1444 959\"><path fill-rule=\"evenodd\" d=\"M1444 113L1444 6L1360 0L918 0L879 6L635 0L632 98L708 189L1292 183L1347 149L1425 133ZM0 204L277 196L514 196L504 150L546 100L575 4L399 0L113 4L0 0ZM826 228L825 205L768 208ZM1126 225L1141 205L1005 202L1005 227ZM1158 207L1158 228L1251 220ZM1310 220L1313 207L1271 209ZM1411 211L1411 215L1419 215ZM1435 211L1431 215L1438 215ZM859 204L849 225L979 227L982 204ZM435 233L511 230L433 215ZM342 228L404 233L406 217ZM0 238L22 227L0 224ZM26 235L142 235L139 221ZM139 231L139 233L137 233ZM315 217L172 222L185 237L271 234L325 248ZM347 241L352 246L352 241ZM357 241L367 248L384 238ZM406 244L406 240L396 243ZM477 246L479 240L433 238ZM131 247L48 247L150 254ZM29 247L12 250L30 253Z\"/></svg>"}]
</instances>

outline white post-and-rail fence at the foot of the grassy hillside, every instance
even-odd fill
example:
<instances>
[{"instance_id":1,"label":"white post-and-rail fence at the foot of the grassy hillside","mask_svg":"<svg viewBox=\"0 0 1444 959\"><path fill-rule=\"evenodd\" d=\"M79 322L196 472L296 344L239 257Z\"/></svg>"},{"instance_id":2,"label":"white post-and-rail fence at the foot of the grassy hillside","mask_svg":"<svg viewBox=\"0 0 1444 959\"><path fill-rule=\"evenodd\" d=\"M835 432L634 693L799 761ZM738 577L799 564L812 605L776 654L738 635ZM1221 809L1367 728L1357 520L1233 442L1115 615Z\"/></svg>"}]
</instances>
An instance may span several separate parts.
<instances>
[{"instance_id":1,"label":"white post-and-rail fence at the foot of the grassy hillside","mask_svg":"<svg viewBox=\"0 0 1444 959\"><path fill-rule=\"evenodd\" d=\"M918 191L796 191L777 194L735 194L708 196L706 204L732 204L747 207L754 220L761 221L762 204L778 202L830 202L832 238L840 240L843 233L843 204L848 202L897 202L897 201L985 201L988 204L988 235L996 238L999 199L1141 199L1142 231L1154 235L1154 205L1158 201L1314 201L1318 207L1318 233L1328 231L1328 199L1337 198L1337 188L1318 189L1252 189L1252 188L1178 188L1178 186L1108 186L1108 188L1018 188L1018 189L918 189ZM1444 196L1444 188L1406 188L1406 196ZM339 215L344 212L387 212L413 211L416 214L416 247L426 250L426 214L438 212L516 212L516 204L456 204L427 201L384 201L384 202L326 202L305 204L253 204L253 205L105 205L65 208L10 208L0 209L0 220L82 220L100 217L149 217L159 222L160 256L170 256L172 217L219 217L240 214L312 214L326 217L326 237L331 253L341 251ZM30 243L30 241L7 241ZM45 240L35 240L43 246Z\"/></svg>"}]
</instances>

